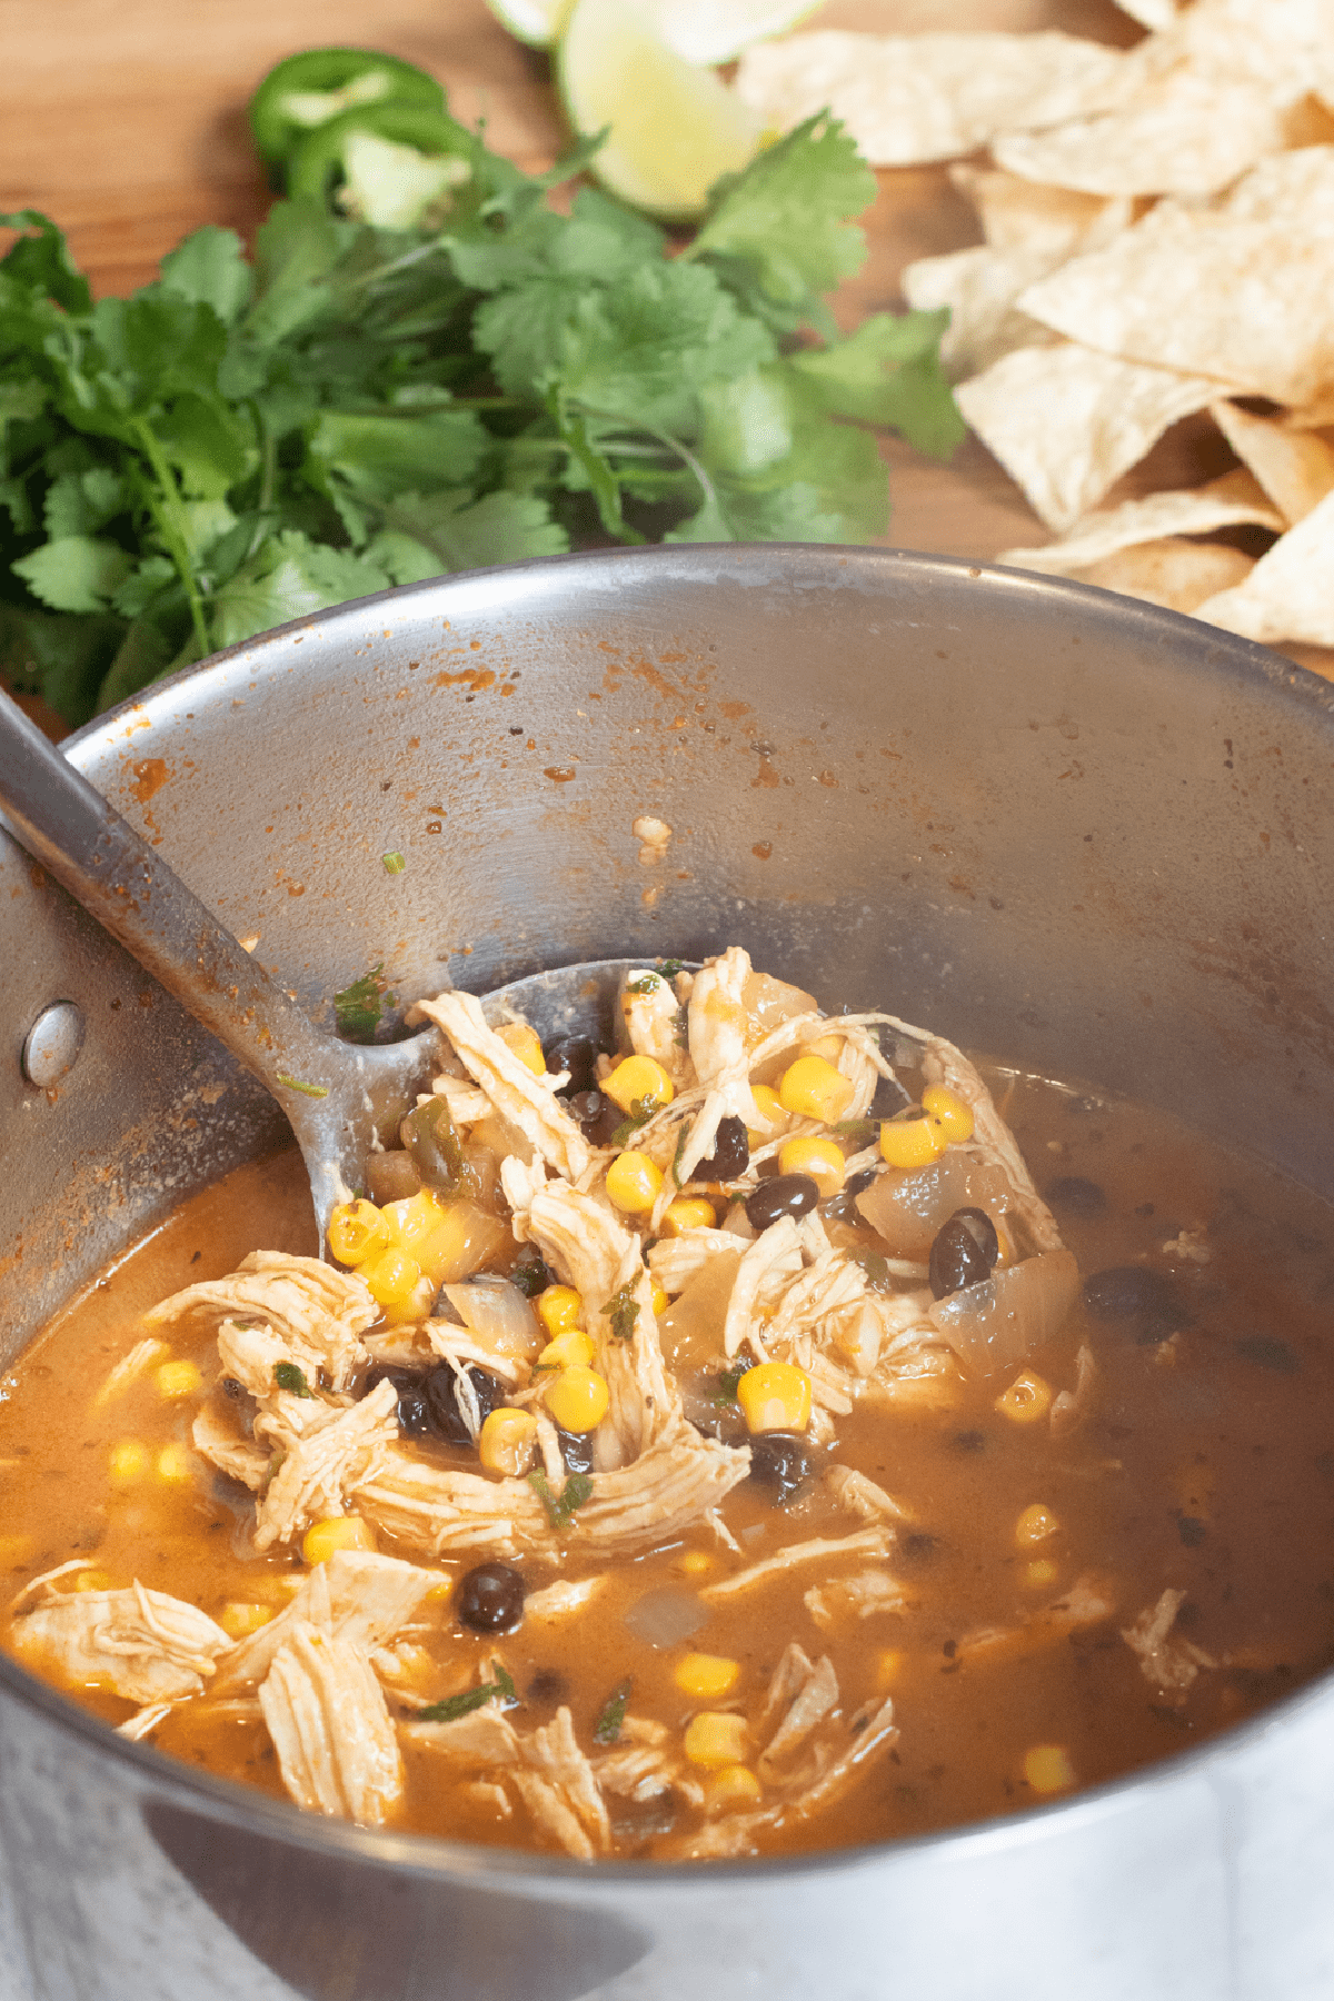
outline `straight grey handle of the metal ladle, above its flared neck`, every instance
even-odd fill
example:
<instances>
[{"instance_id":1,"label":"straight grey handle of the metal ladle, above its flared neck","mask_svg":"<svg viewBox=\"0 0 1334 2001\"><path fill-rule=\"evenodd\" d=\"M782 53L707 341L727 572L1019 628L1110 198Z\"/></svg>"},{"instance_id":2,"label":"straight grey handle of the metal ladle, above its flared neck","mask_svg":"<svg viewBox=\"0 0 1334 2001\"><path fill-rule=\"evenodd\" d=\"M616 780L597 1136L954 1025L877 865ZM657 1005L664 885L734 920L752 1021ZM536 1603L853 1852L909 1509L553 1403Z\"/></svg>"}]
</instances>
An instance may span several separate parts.
<instances>
[{"instance_id":1,"label":"straight grey handle of the metal ladle, above its flared neck","mask_svg":"<svg viewBox=\"0 0 1334 2001\"><path fill-rule=\"evenodd\" d=\"M328 1083L336 1045L2 688L0 808L34 860L282 1105Z\"/></svg>"}]
</instances>

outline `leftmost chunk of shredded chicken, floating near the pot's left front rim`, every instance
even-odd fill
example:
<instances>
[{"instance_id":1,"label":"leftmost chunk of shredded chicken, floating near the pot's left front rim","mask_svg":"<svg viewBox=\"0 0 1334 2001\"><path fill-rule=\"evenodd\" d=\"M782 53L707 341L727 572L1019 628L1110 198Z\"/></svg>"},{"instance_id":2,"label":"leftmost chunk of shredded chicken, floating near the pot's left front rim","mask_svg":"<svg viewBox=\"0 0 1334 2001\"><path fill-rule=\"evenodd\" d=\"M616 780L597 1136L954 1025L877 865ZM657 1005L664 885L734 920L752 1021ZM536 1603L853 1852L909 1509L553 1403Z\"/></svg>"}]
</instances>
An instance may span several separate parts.
<instances>
[{"instance_id":1,"label":"leftmost chunk of shredded chicken, floating near the pot's left front rim","mask_svg":"<svg viewBox=\"0 0 1334 2001\"><path fill-rule=\"evenodd\" d=\"M232 1645L220 1625L184 1599L146 1591L54 1591L14 1621L14 1649L40 1657L72 1687L110 1689L128 1703L200 1695Z\"/></svg>"}]
</instances>

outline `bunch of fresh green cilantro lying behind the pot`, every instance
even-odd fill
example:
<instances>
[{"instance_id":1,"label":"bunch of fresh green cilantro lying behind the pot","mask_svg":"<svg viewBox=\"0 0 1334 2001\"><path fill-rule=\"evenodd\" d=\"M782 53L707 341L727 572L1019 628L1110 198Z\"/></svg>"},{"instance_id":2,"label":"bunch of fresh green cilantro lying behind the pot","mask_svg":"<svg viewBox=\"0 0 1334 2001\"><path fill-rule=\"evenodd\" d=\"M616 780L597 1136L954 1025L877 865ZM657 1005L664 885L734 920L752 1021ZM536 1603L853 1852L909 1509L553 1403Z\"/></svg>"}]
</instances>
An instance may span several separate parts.
<instances>
[{"instance_id":1,"label":"bunch of fresh green cilantro lying behind the pot","mask_svg":"<svg viewBox=\"0 0 1334 2001\"><path fill-rule=\"evenodd\" d=\"M288 618L580 540L856 542L866 424L962 436L944 314L824 304L876 192L812 118L692 242L476 138L444 222L280 202L92 302L28 210L0 260L0 672L72 722ZM850 420L850 422L848 422Z\"/></svg>"}]
</instances>

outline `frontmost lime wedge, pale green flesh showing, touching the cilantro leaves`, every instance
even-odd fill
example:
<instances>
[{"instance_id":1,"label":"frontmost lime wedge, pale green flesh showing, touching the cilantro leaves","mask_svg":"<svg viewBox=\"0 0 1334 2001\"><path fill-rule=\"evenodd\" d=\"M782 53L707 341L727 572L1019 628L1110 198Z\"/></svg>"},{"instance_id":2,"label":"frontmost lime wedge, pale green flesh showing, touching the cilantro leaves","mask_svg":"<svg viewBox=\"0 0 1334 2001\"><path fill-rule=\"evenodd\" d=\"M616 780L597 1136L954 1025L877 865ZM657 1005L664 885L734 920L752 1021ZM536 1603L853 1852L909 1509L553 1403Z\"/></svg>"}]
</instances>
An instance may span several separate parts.
<instances>
[{"instance_id":1,"label":"frontmost lime wedge, pale green flesh showing, touching the cilantro leaves","mask_svg":"<svg viewBox=\"0 0 1334 2001\"><path fill-rule=\"evenodd\" d=\"M624 0L574 0L556 52L560 94L576 132L608 130L592 172L624 202L664 220L704 212L720 174L754 156L756 116L658 40Z\"/></svg>"}]
</instances>

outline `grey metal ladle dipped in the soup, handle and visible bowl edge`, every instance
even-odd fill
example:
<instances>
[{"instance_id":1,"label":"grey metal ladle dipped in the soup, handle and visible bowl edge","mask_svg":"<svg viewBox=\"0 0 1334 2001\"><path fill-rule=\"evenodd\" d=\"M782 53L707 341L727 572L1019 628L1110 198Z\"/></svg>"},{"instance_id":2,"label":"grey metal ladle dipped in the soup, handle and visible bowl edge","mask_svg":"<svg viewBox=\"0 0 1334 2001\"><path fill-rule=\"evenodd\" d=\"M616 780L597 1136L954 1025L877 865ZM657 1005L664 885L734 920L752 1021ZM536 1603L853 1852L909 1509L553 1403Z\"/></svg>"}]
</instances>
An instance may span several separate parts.
<instances>
[{"instance_id":1,"label":"grey metal ladle dipped in the soup, handle and visible bowl edge","mask_svg":"<svg viewBox=\"0 0 1334 2001\"><path fill-rule=\"evenodd\" d=\"M10 830L152 976L252 1071L282 1107L310 1175L320 1251L366 1155L440 1067L442 1039L352 1045L322 1035L128 820L0 690L0 808ZM588 1023L626 960L538 972L488 1003L538 1009L552 1027Z\"/></svg>"}]
</instances>

